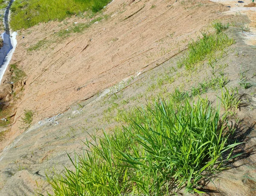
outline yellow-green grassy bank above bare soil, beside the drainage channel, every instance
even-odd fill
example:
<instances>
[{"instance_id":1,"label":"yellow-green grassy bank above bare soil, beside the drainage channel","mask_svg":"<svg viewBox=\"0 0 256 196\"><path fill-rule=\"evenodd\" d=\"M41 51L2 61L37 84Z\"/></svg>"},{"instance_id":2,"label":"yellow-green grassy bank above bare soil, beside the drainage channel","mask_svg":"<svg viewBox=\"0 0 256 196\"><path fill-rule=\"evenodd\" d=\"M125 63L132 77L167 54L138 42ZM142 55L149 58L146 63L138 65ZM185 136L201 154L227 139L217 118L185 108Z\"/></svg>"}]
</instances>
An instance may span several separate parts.
<instances>
[{"instance_id":1,"label":"yellow-green grassy bank above bare soil, beside the drainage channel","mask_svg":"<svg viewBox=\"0 0 256 196\"><path fill-rule=\"evenodd\" d=\"M110 0L23 0L15 1L11 7L11 28L16 31L41 22L63 20L84 11L98 12Z\"/></svg>"}]
</instances>

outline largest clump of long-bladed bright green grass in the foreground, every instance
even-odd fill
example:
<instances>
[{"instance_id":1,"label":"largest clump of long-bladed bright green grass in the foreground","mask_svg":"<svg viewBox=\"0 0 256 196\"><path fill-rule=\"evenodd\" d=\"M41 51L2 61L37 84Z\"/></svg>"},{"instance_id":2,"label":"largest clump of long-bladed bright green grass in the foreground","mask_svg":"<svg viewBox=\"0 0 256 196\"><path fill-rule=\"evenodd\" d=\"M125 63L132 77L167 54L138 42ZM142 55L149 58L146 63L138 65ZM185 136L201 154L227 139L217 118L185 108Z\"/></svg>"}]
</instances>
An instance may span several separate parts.
<instances>
[{"instance_id":1,"label":"largest clump of long-bladed bright green grass in the foreground","mask_svg":"<svg viewBox=\"0 0 256 196\"><path fill-rule=\"evenodd\" d=\"M148 103L127 126L91 136L84 155L70 158L75 170L48 178L48 195L163 195L181 187L201 193L201 180L224 169L239 143L227 144L230 131L207 100L185 97Z\"/></svg>"}]
</instances>

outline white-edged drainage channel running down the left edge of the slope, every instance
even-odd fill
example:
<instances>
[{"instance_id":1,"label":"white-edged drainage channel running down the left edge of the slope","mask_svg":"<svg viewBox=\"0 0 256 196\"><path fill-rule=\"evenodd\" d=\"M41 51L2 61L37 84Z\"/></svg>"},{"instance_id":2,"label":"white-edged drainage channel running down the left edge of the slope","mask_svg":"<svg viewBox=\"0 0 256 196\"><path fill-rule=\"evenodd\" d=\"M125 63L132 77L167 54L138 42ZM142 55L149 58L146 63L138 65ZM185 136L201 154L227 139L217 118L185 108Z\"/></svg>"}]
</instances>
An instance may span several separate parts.
<instances>
[{"instance_id":1,"label":"white-edged drainage channel running down the left edge of the slope","mask_svg":"<svg viewBox=\"0 0 256 196\"><path fill-rule=\"evenodd\" d=\"M16 48L16 32L13 32L10 35L10 28L9 28L9 13L10 13L10 7L12 6L14 0L11 0L6 7L6 11L4 13L4 28L5 32L1 34L1 37L3 38L3 47L0 48L0 82L3 78L3 74L5 73L8 64L12 58L12 54L15 51Z\"/></svg>"}]
</instances>

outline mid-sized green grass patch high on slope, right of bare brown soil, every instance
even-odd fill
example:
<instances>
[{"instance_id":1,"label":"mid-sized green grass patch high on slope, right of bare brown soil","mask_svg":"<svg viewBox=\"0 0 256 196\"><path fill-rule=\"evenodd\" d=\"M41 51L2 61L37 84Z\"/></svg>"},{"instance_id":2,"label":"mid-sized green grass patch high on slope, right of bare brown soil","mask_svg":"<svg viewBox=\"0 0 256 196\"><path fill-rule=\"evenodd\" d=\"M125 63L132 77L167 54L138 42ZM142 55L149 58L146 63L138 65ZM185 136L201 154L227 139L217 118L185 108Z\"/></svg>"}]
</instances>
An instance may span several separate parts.
<instances>
[{"instance_id":1,"label":"mid-sized green grass patch high on slope, right of bare brown soil","mask_svg":"<svg viewBox=\"0 0 256 196\"><path fill-rule=\"evenodd\" d=\"M217 34L202 33L203 37L199 37L198 41L192 40L188 46L188 52L177 63L178 67L185 65L186 69L192 69L194 66L204 60L207 55L211 56L216 51L223 51L235 41L226 34L219 32Z\"/></svg>"}]
</instances>

